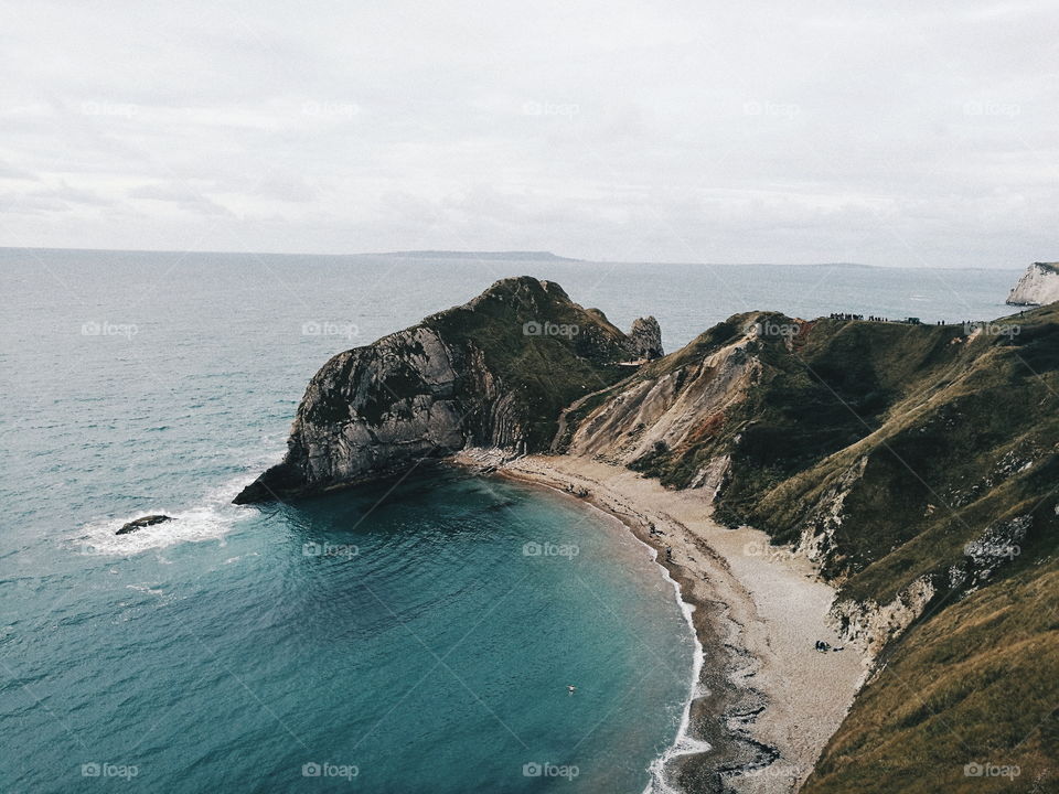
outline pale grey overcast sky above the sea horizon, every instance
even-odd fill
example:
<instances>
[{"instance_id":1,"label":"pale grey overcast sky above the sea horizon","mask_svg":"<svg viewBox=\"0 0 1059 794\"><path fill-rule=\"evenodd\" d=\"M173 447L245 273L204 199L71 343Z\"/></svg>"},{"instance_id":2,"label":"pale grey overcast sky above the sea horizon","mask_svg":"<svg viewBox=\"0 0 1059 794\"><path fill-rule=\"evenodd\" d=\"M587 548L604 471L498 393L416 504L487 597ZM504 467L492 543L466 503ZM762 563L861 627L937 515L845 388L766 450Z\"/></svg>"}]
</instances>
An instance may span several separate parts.
<instances>
[{"instance_id":1,"label":"pale grey overcast sky above the sea horizon","mask_svg":"<svg viewBox=\"0 0 1059 794\"><path fill-rule=\"evenodd\" d=\"M1059 6L0 1L0 245L1059 259Z\"/></svg>"}]
</instances>

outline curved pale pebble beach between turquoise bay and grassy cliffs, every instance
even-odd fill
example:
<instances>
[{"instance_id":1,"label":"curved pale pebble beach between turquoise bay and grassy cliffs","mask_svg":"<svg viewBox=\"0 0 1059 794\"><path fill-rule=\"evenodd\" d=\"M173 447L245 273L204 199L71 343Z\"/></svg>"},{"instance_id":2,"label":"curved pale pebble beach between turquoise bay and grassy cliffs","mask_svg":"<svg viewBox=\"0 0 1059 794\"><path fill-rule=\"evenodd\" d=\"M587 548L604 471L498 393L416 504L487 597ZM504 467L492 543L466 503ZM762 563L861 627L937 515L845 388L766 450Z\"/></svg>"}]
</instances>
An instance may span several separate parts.
<instances>
[{"instance_id":1,"label":"curved pale pebble beach between turquoise bay and grassy cliffs","mask_svg":"<svg viewBox=\"0 0 1059 794\"><path fill-rule=\"evenodd\" d=\"M645 794L798 791L867 672L852 646L815 651L816 640L844 642L825 622L834 590L807 560L760 530L717 525L702 491L667 491L621 466L567 455L501 462L485 450L457 462L580 497L620 521L672 580L698 670Z\"/></svg>"}]
</instances>

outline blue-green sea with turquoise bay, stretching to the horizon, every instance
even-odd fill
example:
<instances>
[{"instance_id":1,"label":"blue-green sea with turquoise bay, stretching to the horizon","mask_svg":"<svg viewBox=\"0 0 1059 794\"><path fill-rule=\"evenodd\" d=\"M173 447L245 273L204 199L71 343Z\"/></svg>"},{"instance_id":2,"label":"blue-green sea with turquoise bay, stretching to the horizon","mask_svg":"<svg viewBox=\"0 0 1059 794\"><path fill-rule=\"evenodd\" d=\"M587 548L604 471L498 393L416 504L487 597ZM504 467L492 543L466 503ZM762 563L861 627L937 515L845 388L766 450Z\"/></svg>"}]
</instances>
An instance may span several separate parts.
<instances>
[{"instance_id":1,"label":"blue-green sea with turquoise bay, stretching to the horizon","mask_svg":"<svg viewBox=\"0 0 1059 794\"><path fill-rule=\"evenodd\" d=\"M309 378L506 276L672 351L752 309L992 319L1020 269L0 249L0 791L666 790L700 650L652 552L454 470L232 505Z\"/></svg>"}]
</instances>

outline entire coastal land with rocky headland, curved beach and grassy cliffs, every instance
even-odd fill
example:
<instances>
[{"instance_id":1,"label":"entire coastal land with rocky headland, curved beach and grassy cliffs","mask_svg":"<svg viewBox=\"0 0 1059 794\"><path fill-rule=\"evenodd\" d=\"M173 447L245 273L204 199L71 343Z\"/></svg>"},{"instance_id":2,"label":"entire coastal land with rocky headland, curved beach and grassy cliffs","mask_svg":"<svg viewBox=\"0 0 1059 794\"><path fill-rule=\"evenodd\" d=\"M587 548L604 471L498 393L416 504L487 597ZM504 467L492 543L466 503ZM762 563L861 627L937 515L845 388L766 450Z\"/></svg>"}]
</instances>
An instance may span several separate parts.
<instances>
[{"instance_id":1,"label":"entire coastal land with rocky headland, curved beach and grassy cliffs","mask_svg":"<svg viewBox=\"0 0 1059 794\"><path fill-rule=\"evenodd\" d=\"M328 362L236 501L447 459L622 517L718 654L691 725L713 749L672 764L687 791L1053 787L1059 307L750 312L662 353L651 318L627 334L504 279Z\"/></svg>"}]
</instances>

